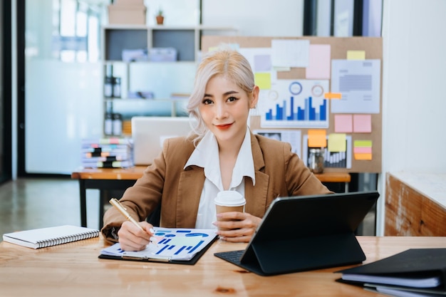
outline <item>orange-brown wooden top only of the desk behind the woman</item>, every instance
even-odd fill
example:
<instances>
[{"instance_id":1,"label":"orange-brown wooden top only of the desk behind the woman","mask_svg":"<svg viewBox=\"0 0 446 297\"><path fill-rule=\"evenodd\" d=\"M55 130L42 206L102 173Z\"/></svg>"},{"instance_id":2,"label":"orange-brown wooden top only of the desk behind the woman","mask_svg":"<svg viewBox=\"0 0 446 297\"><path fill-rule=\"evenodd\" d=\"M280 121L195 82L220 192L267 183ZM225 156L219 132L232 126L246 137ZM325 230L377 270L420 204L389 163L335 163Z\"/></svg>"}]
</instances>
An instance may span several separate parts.
<instances>
[{"instance_id":1,"label":"orange-brown wooden top only of the desk behind the woman","mask_svg":"<svg viewBox=\"0 0 446 297\"><path fill-rule=\"evenodd\" d=\"M131 168L83 168L71 173L73 179L138 179L147 166ZM321 182L350 182L346 172L324 172L314 174Z\"/></svg>"}]
</instances>

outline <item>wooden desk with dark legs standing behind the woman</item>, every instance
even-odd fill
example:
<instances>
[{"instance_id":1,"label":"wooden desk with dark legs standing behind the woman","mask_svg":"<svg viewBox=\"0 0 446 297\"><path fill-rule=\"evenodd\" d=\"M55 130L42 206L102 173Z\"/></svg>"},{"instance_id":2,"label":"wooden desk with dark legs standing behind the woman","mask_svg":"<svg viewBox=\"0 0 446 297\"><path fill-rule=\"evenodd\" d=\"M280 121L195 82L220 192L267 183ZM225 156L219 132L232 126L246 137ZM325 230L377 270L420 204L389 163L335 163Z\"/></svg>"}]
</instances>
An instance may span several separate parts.
<instances>
[{"instance_id":1,"label":"wooden desk with dark legs standing behind the woman","mask_svg":"<svg viewBox=\"0 0 446 297\"><path fill-rule=\"evenodd\" d=\"M71 173L71 178L79 180L79 192L81 198L81 226L87 226L86 189L100 190L99 201L99 228L103 225L103 205L108 201L109 190L123 190L131 187L136 179L142 176L146 166L132 168L85 168ZM348 182L351 177L348 173L327 172L314 174L321 182L344 182L348 192Z\"/></svg>"}]
</instances>

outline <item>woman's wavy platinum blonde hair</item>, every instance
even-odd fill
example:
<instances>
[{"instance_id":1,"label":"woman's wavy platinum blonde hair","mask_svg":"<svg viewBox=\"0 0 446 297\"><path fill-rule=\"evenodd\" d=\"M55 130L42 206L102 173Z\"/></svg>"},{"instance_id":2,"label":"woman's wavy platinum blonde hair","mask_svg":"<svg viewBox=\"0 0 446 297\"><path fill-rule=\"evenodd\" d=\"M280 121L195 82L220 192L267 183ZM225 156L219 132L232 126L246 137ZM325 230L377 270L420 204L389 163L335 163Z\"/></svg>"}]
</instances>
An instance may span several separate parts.
<instances>
[{"instance_id":1,"label":"woman's wavy platinum blonde hair","mask_svg":"<svg viewBox=\"0 0 446 297\"><path fill-rule=\"evenodd\" d=\"M208 81L215 75L224 75L247 94L251 94L254 90L254 73L252 73L247 58L241 53L230 48L220 48L203 56L202 62L197 68L194 88L187 104L187 112L197 119L197 125L194 127L194 132L197 134L194 139L195 143L201 140L207 132L207 127L199 113L199 105L204 98Z\"/></svg>"}]
</instances>

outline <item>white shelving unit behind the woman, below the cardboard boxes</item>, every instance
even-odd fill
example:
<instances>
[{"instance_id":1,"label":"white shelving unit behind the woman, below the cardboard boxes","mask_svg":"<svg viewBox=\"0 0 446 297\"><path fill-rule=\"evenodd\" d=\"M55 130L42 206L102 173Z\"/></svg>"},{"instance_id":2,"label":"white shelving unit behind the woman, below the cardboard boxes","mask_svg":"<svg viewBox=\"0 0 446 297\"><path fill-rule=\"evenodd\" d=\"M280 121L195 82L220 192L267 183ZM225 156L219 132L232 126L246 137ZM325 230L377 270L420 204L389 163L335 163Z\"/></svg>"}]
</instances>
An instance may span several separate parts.
<instances>
[{"instance_id":1,"label":"white shelving unit behind the woman, below the cardboard boxes","mask_svg":"<svg viewBox=\"0 0 446 297\"><path fill-rule=\"evenodd\" d=\"M120 97L105 97L104 113L123 115L123 134L129 134L130 118L135 115L182 116L187 99L172 99L172 94L188 94L192 90L195 71L201 56L202 35L237 35L230 27L209 26L103 26L101 48L103 78L113 75L120 78ZM175 48L177 61L125 62L123 50L150 50ZM113 73L108 69L113 68ZM128 98L131 92L151 92L152 98ZM105 120L105 118L104 118ZM105 133L105 131L104 131Z\"/></svg>"}]
</instances>

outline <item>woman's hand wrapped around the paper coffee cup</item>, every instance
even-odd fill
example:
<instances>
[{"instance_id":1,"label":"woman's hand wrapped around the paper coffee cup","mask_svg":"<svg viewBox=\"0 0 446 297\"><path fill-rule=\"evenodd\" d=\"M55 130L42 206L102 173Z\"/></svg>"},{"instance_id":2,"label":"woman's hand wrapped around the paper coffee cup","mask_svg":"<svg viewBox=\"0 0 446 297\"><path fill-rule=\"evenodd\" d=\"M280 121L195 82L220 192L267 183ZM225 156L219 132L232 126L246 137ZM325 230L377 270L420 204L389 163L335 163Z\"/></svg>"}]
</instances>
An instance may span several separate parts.
<instances>
[{"instance_id":1,"label":"woman's hand wrapped around the paper coffee cup","mask_svg":"<svg viewBox=\"0 0 446 297\"><path fill-rule=\"evenodd\" d=\"M217 214L217 226L220 239L231 242L249 242L261 219L247 212L222 212Z\"/></svg>"}]
</instances>

